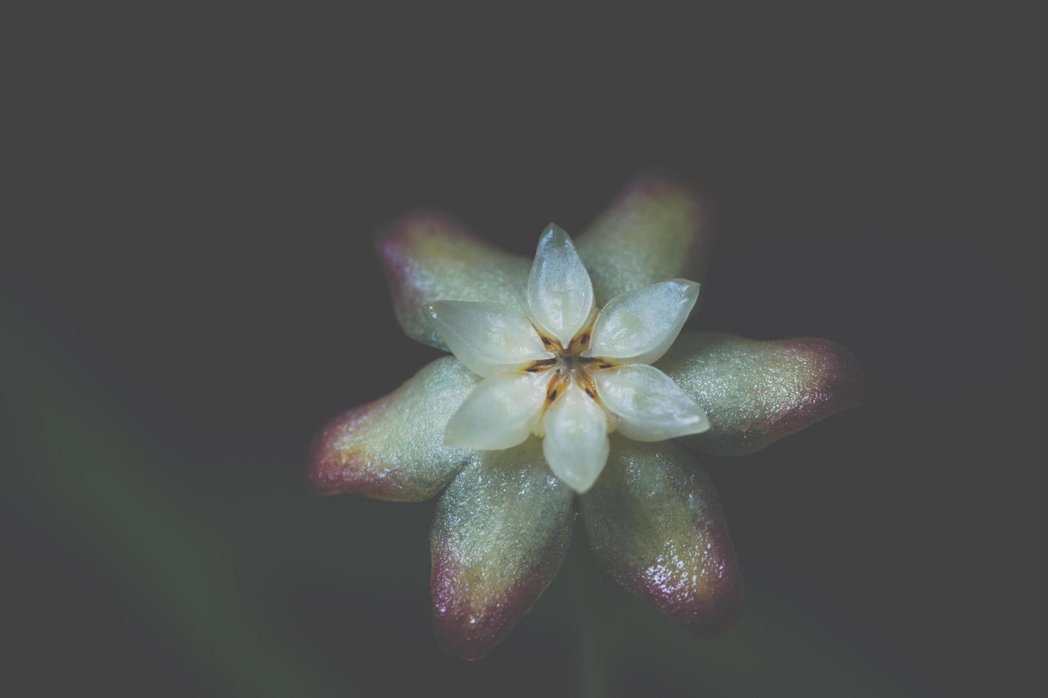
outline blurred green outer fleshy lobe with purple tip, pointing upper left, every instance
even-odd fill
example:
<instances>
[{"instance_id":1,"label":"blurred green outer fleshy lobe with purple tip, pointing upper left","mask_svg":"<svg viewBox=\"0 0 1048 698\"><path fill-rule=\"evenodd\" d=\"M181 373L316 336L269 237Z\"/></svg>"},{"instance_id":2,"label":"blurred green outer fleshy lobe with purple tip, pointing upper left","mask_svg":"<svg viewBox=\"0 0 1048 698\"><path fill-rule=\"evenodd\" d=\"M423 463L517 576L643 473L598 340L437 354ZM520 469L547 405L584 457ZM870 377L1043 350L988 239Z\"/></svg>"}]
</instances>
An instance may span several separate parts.
<instances>
[{"instance_id":1,"label":"blurred green outer fleshy lobe with purple tip, pointing upper left","mask_svg":"<svg viewBox=\"0 0 1048 698\"><path fill-rule=\"evenodd\" d=\"M378 237L397 320L409 337L446 350L425 318L435 300L484 300L527 310L531 261L503 252L437 212L410 213Z\"/></svg>"}]
</instances>

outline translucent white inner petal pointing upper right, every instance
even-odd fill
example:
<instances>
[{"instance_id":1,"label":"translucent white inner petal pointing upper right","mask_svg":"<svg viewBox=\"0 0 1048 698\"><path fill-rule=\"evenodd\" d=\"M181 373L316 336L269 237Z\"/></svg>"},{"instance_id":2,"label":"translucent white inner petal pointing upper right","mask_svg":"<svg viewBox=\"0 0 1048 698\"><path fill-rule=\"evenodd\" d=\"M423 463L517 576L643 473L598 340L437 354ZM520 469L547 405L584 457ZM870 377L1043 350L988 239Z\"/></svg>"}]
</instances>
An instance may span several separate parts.
<instances>
[{"instance_id":1,"label":"translucent white inner petal pointing upper right","mask_svg":"<svg viewBox=\"0 0 1048 698\"><path fill-rule=\"evenodd\" d=\"M652 363L673 344L698 298L699 285L686 278L617 295L597 316L584 355Z\"/></svg>"}]
</instances>

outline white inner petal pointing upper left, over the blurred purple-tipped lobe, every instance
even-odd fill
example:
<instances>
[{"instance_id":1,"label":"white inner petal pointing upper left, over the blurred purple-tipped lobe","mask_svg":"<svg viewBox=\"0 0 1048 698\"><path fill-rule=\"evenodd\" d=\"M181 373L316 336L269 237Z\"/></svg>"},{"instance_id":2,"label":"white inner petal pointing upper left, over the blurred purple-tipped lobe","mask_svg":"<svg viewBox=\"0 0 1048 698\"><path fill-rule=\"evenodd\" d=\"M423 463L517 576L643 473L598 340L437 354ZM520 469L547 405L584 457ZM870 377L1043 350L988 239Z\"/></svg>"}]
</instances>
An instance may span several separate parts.
<instances>
[{"instance_id":1,"label":"white inner petal pointing upper left, over the blurred purple-tipped lobe","mask_svg":"<svg viewBox=\"0 0 1048 698\"><path fill-rule=\"evenodd\" d=\"M520 368L552 354L516 308L471 300L438 300L427 307L430 322L458 360L483 377Z\"/></svg>"}]
</instances>

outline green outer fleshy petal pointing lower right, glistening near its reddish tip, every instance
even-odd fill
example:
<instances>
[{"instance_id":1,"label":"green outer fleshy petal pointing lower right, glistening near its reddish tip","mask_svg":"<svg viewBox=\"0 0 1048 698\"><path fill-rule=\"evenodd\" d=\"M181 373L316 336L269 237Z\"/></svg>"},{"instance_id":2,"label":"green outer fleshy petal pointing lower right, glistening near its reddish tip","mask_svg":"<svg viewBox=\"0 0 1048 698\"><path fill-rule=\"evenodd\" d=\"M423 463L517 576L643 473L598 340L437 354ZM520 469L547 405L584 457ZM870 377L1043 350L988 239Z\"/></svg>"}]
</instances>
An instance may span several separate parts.
<instances>
[{"instance_id":1,"label":"green outer fleshy petal pointing lower right, glistening near its reddish tip","mask_svg":"<svg viewBox=\"0 0 1048 698\"><path fill-rule=\"evenodd\" d=\"M594 555L619 584L712 637L738 618L742 580L717 493L694 459L673 442L613 436L580 513Z\"/></svg>"}]
</instances>

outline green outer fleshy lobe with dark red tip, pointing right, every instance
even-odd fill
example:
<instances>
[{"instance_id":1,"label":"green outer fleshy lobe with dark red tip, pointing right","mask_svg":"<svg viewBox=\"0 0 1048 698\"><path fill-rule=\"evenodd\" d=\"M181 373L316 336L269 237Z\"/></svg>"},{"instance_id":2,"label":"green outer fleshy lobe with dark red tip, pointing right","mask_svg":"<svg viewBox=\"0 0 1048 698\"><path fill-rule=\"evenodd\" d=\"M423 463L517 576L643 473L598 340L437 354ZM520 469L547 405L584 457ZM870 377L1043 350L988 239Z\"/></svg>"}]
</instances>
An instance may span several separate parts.
<instances>
[{"instance_id":1,"label":"green outer fleshy lobe with dark red tip, pointing right","mask_svg":"<svg viewBox=\"0 0 1048 698\"><path fill-rule=\"evenodd\" d=\"M826 339L682 332L657 366L709 419L681 443L718 455L752 453L863 402L858 362Z\"/></svg>"}]
</instances>

